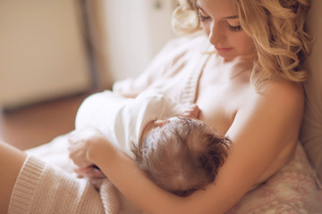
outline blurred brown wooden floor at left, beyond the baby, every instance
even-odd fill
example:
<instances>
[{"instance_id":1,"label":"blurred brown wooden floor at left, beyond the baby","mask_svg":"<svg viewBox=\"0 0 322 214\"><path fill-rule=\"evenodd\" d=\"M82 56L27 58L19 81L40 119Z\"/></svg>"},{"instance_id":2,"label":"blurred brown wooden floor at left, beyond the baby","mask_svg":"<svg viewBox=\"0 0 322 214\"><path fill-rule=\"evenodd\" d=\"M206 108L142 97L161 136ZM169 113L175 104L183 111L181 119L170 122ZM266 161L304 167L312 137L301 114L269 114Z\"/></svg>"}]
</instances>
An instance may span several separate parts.
<instances>
[{"instance_id":1,"label":"blurred brown wooden floor at left, beyond the baby","mask_svg":"<svg viewBox=\"0 0 322 214\"><path fill-rule=\"evenodd\" d=\"M0 111L0 139L25 150L72 131L76 112L88 95L38 103L14 111Z\"/></svg>"}]
</instances>

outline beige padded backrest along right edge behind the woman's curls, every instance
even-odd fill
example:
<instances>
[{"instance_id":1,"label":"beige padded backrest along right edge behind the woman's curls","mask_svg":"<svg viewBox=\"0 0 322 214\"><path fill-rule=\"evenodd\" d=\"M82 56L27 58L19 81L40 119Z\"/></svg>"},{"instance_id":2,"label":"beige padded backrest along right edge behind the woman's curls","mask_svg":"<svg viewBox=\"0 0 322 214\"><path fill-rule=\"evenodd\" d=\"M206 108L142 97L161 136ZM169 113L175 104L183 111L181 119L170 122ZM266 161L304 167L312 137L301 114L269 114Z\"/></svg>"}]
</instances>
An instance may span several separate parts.
<instances>
[{"instance_id":1,"label":"beige padded backrest along right edge behind the woman's curls","mask_svg":"<svg viewBox=\"0 0 322 214\"><path fill-rule=\"evenodd\" d=\"M304 83L306 106L301 126L301 143L309 161L322 180L322 1L313 0L309 11L308 28L316 37L312 53L305 63L309 80Z\"/></svg>"}]
</instances>

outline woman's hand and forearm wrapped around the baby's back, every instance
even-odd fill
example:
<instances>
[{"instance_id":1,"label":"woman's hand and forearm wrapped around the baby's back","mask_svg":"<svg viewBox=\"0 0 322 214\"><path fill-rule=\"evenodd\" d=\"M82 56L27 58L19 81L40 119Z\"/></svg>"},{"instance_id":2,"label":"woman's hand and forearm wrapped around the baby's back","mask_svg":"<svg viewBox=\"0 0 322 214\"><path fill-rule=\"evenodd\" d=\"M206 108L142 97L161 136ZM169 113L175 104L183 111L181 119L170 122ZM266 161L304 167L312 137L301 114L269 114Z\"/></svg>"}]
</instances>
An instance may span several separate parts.
<instances>
[{"instance_id":1,"label":"woman's hand and forearm wrapped around the baby's back","mask_svg":"<svg viewBox=\"0 0 322 214\"><path fill-rule=\"evenodd\" d=\"M149 211L148 213L153 213L148 209L149 206L146 206L148 201L153 204L158 202L156 204L158 206L158 204L169 204L161 202L160 198L166 200L177 198L174 194L163 191L148 177L145 177L135 162L108 142L96 128L89 127L73 131L69 136L69 142L70 157L78 167L87 168L93 164L97 165L131 202ZM157 195L157 198L161 197L157 199L154 195Z\"/></svg>"}]
</instances>

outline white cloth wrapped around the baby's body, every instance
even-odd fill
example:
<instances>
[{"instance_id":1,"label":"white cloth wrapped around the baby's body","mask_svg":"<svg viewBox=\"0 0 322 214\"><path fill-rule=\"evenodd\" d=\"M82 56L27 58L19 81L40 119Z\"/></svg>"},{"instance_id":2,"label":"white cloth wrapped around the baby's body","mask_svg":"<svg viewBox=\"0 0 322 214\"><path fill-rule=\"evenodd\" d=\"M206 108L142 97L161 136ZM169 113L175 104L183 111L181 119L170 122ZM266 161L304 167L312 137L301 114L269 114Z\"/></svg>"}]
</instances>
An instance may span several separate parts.
<instances>
[{"instance_id":1,"label":"white cloth wrapped around the baby's body","mask_svg":"<svg viewBox=\"0 0 322 214\"><path fill-rule=\"evenodd\" d=\"M124 98L106 90L90 95L81 103L75 128L97 128L112 144L132 157L132 146L139 144L141 132L148 122L172 116L176 105L157 91Z\"/></svg>"}]
</instances>

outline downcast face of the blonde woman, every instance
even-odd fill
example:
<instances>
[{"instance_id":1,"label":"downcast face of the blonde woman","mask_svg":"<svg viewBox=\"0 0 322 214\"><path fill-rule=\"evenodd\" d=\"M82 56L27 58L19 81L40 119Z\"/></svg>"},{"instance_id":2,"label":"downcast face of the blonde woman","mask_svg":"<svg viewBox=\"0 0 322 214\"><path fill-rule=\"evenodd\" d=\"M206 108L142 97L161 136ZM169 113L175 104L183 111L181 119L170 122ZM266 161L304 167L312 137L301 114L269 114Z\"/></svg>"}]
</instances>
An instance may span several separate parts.
<instances>
[{"instance_id":1,"label":"downcast face of the blonde woman","mask_svg":"<svg viewBox=\"0 0 322 214\"><path fill-rule=\"evenodd\" d=\"M197 8L202 29L225 60L255 53L252 40L241 27L233 0L197 0Z\"/></svg>"}]
</instances>

